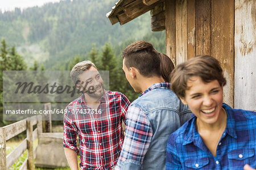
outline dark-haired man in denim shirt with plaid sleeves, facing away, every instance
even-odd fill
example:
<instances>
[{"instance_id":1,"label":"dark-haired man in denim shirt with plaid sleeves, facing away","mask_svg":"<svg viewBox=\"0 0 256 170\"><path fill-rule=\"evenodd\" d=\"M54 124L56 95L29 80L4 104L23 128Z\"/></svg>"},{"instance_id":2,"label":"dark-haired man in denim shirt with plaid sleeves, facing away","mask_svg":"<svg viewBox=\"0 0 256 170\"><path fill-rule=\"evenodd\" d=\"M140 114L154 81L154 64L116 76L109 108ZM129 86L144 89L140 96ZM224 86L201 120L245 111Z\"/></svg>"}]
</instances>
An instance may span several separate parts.
<instances>
[{"instance_id":1,"label":"dark-haired man in denim shirt with plaid sleeves, facing away","mask_svg":"<svg viewBox=\"0 0 256 170\"><path fill-rule=\"evenodd\" d=\"M115 169L165 169L168 136L191 117L170 90L174 64L152 44L135 42L122 53L123 71L137 93L126 113L126 131Z\"/></svg>"}]
</instances>

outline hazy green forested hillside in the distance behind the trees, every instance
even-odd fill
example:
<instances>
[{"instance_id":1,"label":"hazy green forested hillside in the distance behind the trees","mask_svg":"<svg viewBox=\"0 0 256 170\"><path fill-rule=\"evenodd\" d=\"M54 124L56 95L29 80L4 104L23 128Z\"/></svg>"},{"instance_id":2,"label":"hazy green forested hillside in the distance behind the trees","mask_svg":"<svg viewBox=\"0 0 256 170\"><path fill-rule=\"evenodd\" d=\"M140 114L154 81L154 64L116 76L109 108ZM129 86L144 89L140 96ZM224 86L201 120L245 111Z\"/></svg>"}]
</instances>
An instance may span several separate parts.
<instances>
[{"instance_id":1,"label":"hazy green forested hillside in the distance behind the trees","mask_svg":"<svg viewBox=\"0 0 256 170\"><path fill-rule=\"evenodd\" d=\"M73 56L89 53L92 44L96 48L107 42L118 45L151 32L149 13L112 26L105 15L115 1L66 0L0 13L0 39L15 45L28 65L36 59L46 69L61 69Z\"/></svg>"}]
</instances>

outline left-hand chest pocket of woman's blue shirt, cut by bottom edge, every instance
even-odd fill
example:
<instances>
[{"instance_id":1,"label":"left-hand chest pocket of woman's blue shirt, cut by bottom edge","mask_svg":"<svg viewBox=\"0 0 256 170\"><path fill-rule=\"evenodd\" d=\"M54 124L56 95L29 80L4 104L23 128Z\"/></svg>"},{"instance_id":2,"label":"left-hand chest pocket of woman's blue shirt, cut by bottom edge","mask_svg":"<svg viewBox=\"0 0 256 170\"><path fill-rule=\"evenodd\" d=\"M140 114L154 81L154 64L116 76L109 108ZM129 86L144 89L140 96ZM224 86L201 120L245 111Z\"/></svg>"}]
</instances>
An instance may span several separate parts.
<instances>
[{"instance_id":1,"label":"left-hand chest pocket of woman's blue shirt, cut by bottom edge","mask_svg":"<svg viewBox=\"0 0 256 170\"><path fill-rule=\"evenodd\" d=\"M209 158L208 157L202 157L198 159L187 159L185 160L185 167L186 169L200 169L200 168L206 168L206 166L209 164Z\"/></svg>"}]
</instances>

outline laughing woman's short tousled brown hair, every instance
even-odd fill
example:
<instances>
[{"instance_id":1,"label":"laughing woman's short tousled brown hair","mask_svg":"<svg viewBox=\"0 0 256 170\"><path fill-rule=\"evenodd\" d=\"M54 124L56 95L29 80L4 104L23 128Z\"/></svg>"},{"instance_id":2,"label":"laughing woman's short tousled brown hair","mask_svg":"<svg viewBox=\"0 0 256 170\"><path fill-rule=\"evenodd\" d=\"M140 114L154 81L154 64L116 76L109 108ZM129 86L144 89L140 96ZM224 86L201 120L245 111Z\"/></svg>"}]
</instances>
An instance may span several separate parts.
<instances>
[{"instance_id":1,"label":"laughing woman's short tousled brown hair","mask_svg":"<svg viewBox=\"0 0 256 170\"><path fill-rule=\"evenodd\" d=\"M171 88L178 97L185 97L185 90L189 89L187 82L193 76L200 77L204 82L217 80L220 85L226 84L217 59L212 56L196 56L177 65L171 73Z\"/></svg>"}]
</instances>

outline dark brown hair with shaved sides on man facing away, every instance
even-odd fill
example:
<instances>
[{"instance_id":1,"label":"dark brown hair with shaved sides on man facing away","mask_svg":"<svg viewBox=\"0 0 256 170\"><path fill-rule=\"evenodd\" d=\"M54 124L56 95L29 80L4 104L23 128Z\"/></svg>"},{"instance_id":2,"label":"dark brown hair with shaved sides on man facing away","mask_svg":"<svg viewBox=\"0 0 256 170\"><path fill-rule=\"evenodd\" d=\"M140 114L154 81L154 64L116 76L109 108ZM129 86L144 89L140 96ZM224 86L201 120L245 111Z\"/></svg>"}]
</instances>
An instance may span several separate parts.
<instances>
[{"instance_id":1,"label":"dark brown hair with shaved sides on man facing away","mask_svg":"<svg viewBox=\"0 0 256 170\"><path fill-rule=\"evenodd\" d=\"M160 76L160 57L151 43L138 41L128 45L122 58L127 68L138 69L144 77Z\"/></svg>"}]
</instances>

